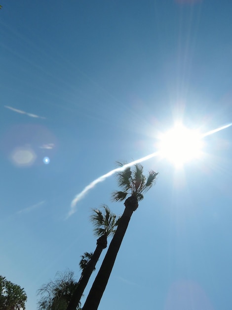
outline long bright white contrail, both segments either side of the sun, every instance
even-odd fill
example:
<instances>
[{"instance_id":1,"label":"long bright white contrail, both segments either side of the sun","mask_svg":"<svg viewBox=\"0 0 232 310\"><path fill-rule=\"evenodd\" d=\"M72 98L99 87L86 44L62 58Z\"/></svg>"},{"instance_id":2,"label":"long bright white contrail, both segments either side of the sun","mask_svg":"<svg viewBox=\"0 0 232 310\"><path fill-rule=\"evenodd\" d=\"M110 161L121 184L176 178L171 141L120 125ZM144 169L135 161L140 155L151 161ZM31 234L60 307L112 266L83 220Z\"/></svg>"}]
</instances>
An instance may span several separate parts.
<instances>
[{"instance_id":1,"label":"long bright white contrail, both segments either side of the sun","mask_svg":"<svg viewBox=\"0 0 232 310\"><path fill-rule=\"evenodd\" d=\"M204 138L206 136L209 136L209 135L212 135L218 131L221 131L223 129L226 129L228 127L232 126L232 123L228 124L228 125L225 125L225 126L222 126L222 127L219 127L217 129L213 129L213 130L210 130L204 134L201 135L201 138ZM100 176L99 178L97 178L96 180L92 181L89 185L87 185L83 190L82 192L80 192L79 194L77 194L77 196L74 198L74 200L72 201L71 203L71 209L68 213L68 215L66 216L66 219L69 218L71 215L73 215L75 212L76 212L76 206L77 206L77 203L78 201L80 201L87 193L88 191L90 191L92 188L94 188L94 186L100 182L103 182L106 178L108 178L109 176L111 176L112 174L114 174L115 172L118 172L118 171L123 171L124 169L126 169L127 167L130 167L136 163L139 163L141 161L144 161L144 160L147 160L147 159L150 159L152 157L155 157L158 155L159 152L155 152L155 153L152 153L150 155L147 155L145 157L142 157L140 159L137 159L137 160L134 160L134 161L131 161L127 164L125 164L124 166L122 167L119 167L119 168L116 168L114 170L111 170L110 172Z\"/></svg>"}]
</instances>

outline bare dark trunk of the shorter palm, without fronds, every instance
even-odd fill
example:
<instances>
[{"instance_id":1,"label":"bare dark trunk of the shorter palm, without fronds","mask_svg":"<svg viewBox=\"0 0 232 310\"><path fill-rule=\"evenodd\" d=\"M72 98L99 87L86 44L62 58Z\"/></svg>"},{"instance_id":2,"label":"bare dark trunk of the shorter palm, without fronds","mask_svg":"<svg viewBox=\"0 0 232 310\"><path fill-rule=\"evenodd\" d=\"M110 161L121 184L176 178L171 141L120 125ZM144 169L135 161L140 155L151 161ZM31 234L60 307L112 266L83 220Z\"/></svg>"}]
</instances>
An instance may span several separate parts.
<instances>
[{"instance_id":1,"label":"bare dark trunk of the shorter palm, without fronds","mask_svg":"<svg viewBox=\"0 0 232 310\"><path fill-rule=\"evenodd\" d=\"M95 268L95 265L103 251L107 247L107 237L101 236L97 240L97 247L93 253L92 258L89 260L84 272L82 273L79 282L77 284L77 288L73 293L73 296L70 300L70 303L68 305L67 310L76 310L77 306L79 304L79 301L81 299L81 296L83 295L84 289L88 283L88 280Z\"/></svg>"}]
</instances>

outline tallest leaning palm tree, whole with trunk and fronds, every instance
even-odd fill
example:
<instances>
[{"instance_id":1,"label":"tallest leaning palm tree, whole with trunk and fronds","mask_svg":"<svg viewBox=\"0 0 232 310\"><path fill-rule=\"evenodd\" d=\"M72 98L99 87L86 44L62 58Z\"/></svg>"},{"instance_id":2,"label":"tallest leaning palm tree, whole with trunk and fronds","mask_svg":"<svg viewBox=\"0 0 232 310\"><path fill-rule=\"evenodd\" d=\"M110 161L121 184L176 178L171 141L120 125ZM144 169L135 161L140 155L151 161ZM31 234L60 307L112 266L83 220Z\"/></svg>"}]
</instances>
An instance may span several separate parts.
<instances>
[{"instance_id":1,"label":"tallest leaning palm tree, whole with trunk and fronds","mask_svg":"<svg viewBox=\"0 0 232 310\"><path fill-rule=\"evenodd\" d=\"M118 165L123 167L124 164L119 162ZM131 215L137 209L138 201L144 198L143 194L155 184L157 174L155 171L150 171L146 178L141 164L136 164L132 169L128 167L117 173L118 185L122 191L114 192L112 200L123 201L128 195L129 197L124 202L125 210L82 310L98 309Z\"/></svg>"}]
</instances>

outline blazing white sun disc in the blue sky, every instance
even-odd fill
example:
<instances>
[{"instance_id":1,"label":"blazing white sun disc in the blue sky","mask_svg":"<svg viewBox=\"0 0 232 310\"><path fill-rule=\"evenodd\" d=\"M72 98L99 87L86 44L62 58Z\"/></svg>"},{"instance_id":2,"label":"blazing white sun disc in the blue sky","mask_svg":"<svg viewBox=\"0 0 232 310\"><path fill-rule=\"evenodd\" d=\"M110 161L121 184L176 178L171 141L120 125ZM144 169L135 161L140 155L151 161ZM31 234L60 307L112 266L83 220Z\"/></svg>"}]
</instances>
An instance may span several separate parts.
<instances>
[{"instance_id":1,"label":"blazing white sun disc in the blue sky","mask_svg":"<svg viewBox=\"0 0 232 310\"><path fill-rule=\"evenodd\" d=\"M184 163L202 156L202 135L197 130L176 124L173 129L160 134L158 152L179 168Z\"/></svg>"}]
</instances>

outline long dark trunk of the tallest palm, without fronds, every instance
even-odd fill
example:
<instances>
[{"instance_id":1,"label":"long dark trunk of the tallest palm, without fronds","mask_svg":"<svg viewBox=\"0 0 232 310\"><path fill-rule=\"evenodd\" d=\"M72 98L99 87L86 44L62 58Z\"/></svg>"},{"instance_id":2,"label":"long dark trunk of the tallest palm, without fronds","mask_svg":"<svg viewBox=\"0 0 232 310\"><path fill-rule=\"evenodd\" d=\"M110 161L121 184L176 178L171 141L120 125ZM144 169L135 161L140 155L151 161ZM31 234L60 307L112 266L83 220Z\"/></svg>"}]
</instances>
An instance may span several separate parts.
<instances>
[{"instance_id":1,"label":"long dark trunk of the tallest palm, without fronds","mask_svg":"<svg viewBox=\"0 0 232 310\"><path fill-rule=\"evenodd\" d=\"M100 304L102 295L107 286L111 271L113 269L117 252L120 248L122 239L125 235L131 215L138 207L138 201L135 196L129 197L125 203L125 210L120 217L116 233L111 241L107 254L102 262L101 268L95 278L92 288L88 294L82 310L97 310Z\"/></svg>"}]
</instances>

